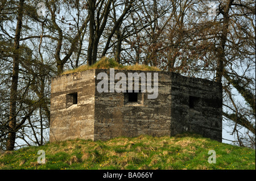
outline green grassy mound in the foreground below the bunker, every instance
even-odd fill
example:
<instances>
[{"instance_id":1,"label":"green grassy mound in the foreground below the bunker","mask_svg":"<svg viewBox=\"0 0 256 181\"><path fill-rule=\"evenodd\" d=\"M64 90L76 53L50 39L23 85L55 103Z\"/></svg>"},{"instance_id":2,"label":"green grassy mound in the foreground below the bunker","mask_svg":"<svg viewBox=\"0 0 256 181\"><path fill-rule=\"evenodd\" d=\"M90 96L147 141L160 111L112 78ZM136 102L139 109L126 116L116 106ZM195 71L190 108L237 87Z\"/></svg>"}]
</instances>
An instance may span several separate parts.
<instances>
[{"instance_id":1,"label":"green grassy mound in the foreground below the bunker","mask_svg":"<svg viewBox=\"0 0 256 181\"><path fill-rule=\"evenodd\" d=\"M39 150L45 151L46 163L35 166ZM208 162L209 150L216 151L216 163ZM0 155L0 169L255 170L255 150L222 144L197 134L69 140L6 151Z\"/></svg>"}]
</instances>

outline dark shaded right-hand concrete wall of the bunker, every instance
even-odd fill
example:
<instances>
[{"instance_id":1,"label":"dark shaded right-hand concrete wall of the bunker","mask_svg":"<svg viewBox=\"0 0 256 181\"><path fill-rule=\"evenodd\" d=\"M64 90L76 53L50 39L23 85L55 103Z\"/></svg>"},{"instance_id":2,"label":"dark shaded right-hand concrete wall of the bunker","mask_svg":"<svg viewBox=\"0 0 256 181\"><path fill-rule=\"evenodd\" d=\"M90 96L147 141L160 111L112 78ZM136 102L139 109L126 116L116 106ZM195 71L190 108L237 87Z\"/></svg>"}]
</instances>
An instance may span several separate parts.
<instances>
[{"instance_id":1,"label":"dark shaded right-hand concrete wall of the bunker","mask_svg":"<svg viewBox=\"0 0 256 181\"><path fill-rule=\"evenodd\" d=\"M222 141L222 85L171 74L171 135L194 132Z\"/></svg>"}]
</instances>

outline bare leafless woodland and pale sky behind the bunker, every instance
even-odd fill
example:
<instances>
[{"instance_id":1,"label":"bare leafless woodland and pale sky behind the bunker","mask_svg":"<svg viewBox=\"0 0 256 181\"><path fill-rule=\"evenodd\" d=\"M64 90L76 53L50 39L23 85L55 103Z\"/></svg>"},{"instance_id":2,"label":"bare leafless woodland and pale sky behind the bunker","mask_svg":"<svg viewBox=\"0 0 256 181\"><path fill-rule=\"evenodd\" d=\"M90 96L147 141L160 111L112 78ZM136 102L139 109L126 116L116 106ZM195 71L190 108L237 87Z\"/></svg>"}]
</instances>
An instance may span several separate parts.
<instances>
[{"instance_id":1,"label":"bare leafless woodland and pale sky behind the bunker","mask_svg":"<svg viewBox=\"0 0 256 181\"><path fill-rule=\"evenodd\" d=\"M255 1L1 0L0 150L46 143L51 78L104 56L222 82L223 124L255 148Z\"/></svg>"}]
</instances>

